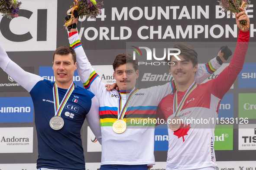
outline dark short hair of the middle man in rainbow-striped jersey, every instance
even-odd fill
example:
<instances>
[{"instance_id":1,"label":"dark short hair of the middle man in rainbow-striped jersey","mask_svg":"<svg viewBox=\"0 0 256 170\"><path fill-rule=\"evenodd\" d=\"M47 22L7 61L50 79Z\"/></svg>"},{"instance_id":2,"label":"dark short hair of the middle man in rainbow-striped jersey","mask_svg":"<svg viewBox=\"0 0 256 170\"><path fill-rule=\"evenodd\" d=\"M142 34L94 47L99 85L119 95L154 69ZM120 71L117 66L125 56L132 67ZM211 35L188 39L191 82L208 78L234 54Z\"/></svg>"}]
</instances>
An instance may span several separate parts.
<instances>
[{"instance_id":1,"label":"dark short hair of the middle man in rainbow-striped jersey","mask_svg":"<svg viewBox=\"0 0 256 170\"><path fill-rule=\"evenodd\" d=\"M133 60L133 56L128 54L128 53L121 53L119 55L117 55L117 57L115 58L114 62L113 62L113 69L114 71L116 71L116 68L119 67L120 65L126 64L126 63L131 63L133 64L133 68L135 71L138 70L138 58L136 58L135 60Z\"/></svg>"}]
</instances>

